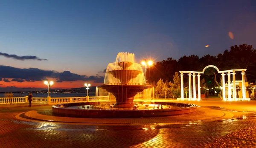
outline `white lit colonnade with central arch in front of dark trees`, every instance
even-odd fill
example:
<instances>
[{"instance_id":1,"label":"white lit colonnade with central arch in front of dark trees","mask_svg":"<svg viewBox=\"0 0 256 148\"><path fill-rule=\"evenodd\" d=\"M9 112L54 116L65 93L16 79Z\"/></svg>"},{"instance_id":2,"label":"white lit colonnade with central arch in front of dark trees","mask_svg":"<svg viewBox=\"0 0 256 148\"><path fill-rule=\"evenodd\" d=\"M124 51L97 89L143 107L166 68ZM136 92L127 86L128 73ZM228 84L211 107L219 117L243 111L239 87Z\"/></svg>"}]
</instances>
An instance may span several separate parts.
<instances>
[{"instance_id":1,"label":"white lit colonnade with central arch in front of dark trees","mask_svg":"<svg viewBox=\"0 0 256 148\"><path fill-rule=\"evenodd\" d=\"M246 71L246 69L239 69L239 70L225 70L225 71L219 71L217 67L215 67L214 65L209 65L207 67L204 68L204 70L206 70L209 67L213 67L215 68L218 73L221 73L222 76L222 97L224 101L237 101L238 99L236 98L236 72L237 71L241 71L241 76L242 76L242 100L245 100L245 78L244 78L244 74ZM189 98L188 100L201 100L201 80L200 80L200 74L204 73L204 70L202 72L195 72L195 71L180 71L180 81L181 81L181 100L184 100L184 85L183 85L183 73L188 73L189 76ZM225 75L227 74L227 86L228 86L228 98L226 98L226 92L225 92ZM232 80L233 80L233 94L231 92L231 74L233 76ZM192 80L191 80L191 75L193 75L193 98L192 98ZM196 82L195 82L195 78L196 75L198 76L198 98L196 98ZM232 96L233 95L233 98ZM226 100L227 99L227 100Z\"/></svg>"}]
</instances>

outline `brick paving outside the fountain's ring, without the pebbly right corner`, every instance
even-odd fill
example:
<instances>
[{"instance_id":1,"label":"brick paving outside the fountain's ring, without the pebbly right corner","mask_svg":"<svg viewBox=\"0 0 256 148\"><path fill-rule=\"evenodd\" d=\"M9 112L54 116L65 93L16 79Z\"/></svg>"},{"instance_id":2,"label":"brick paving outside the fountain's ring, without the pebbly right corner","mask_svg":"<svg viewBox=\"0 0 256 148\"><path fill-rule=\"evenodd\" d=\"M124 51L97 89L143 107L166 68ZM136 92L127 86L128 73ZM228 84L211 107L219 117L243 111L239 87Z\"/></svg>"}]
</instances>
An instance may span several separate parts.
<instances>
[{"instance_id":1,"label":"brick paving outside the fountain's ring, without the pebbly right corner","mask_svg":"<svg viewBox=\"0 0 256 148\"><path fill-rule=\"evenodd\" d=\"M162 119L149 118L145 122L144 119L137 119L134 123L140 124L126 126L57 123L16 118L17 114L22 112L49 112L49 109L51 106L0 109L0 148L203 148L218 137L256 126L254 112L227 112L229 108L216 110L217 108L206 107L202 108L204 110L201 112L207 112L204 116L210 116L208 118L211 119L203 122L191 122L194 121L191 119L198 120L197 118L202 115L200 112L192 116L171 116L170 119L157 123L151 121ZM211 116L214 112L225 112L225 115L233 114L234 117L227 119L225 115L219 114L217 118L213 118ZM242 119L243 115L247 118ZM121 123L127 122L126 119L119 120Z\"/></svg>"}]
</instances>

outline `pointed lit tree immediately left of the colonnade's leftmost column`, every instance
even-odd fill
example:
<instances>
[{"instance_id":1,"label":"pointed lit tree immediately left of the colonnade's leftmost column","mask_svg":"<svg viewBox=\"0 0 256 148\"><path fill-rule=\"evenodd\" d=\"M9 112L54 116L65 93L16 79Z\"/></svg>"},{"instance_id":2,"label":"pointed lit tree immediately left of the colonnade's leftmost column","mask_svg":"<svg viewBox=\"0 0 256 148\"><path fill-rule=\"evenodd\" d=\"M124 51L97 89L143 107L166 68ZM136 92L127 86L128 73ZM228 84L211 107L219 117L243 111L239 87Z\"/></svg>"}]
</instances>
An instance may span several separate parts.
<instances>
[{"instance_id":1,"label":"pointed lit tree immediately left of the colonnade's leftmost column","mask_svg":"<svg viewBox=\"0 0 256 148\"><path fill-rule=\"evenodd\" d=\"M178 72L173 75L173 83L169 82L169 91L174 98L180 98L180 76Z\"/></svg>"}]
</instances>

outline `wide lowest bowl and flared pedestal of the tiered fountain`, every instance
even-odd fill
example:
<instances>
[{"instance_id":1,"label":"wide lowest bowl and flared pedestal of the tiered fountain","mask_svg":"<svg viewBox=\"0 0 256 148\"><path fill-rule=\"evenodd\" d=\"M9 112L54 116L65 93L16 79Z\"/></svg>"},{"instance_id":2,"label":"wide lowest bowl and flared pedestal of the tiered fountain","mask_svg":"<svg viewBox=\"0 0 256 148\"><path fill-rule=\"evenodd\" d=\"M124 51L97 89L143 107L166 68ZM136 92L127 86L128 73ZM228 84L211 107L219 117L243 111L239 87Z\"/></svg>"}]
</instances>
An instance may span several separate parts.
<instances>
[{"instance_id":1,"label":"wide lowest bowl and flared pedestal of the tiered fountain","mask_svg":"<svg viewBox=\"0 0 256 148\"><path fill-rule=\"evenodd\" d=\"M134 106L134 96L144 89L151 88L151 85L101 85L97 86L106 89L116 97L115 108L132 108Z\"/></svg>"}]
</instances>

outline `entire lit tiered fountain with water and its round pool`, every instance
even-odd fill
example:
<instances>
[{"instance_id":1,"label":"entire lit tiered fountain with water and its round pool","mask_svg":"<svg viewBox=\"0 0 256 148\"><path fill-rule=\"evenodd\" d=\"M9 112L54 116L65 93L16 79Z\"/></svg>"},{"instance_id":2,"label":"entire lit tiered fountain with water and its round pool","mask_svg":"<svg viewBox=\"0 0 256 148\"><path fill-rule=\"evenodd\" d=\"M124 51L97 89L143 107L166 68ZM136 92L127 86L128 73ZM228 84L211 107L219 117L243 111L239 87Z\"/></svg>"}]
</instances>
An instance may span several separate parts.
<instances>
[{"instance_id":1,"label":"entire lit tiered fountain with water and its round pool","mask_svg":"<svg viewBox=\"0 0 256 148\"><path fill-rule=\"evenodd\" d=\"M104 84L97 86L96 90L98 88L112 94L116 103L110 105L111 100L105 103L100 101L63 103L52 106L52 112L67 117L134 118L186 114L195 112L197 109L194 104L148 101L147 99L134 104L135 95L148 93L153 87L146 84L143 69L134 61L133 53L118 53L116 61L108 64Z\"/></svg>"}]
</instances>

